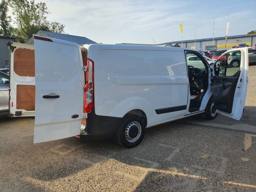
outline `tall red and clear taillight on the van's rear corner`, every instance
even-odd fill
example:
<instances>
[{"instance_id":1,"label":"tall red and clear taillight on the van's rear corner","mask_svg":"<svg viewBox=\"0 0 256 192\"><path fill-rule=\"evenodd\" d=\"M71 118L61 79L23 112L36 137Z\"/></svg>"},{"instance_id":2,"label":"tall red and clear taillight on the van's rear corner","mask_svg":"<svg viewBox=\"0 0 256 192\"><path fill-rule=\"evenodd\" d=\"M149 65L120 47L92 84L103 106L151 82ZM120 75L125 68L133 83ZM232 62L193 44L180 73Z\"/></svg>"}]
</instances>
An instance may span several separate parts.
<instances>
[{"instance_id":1,"label":"tall red and clear taillight on the van's rear corner","mask_svg":"<svg viewBox=\"0 0 256 192\"><path fill-rule=\"evenodd\" d=\"M90 113L94 107L94 62L87 59L87 84L84 87L85 113Z\"/></svg>"}]
</instances>

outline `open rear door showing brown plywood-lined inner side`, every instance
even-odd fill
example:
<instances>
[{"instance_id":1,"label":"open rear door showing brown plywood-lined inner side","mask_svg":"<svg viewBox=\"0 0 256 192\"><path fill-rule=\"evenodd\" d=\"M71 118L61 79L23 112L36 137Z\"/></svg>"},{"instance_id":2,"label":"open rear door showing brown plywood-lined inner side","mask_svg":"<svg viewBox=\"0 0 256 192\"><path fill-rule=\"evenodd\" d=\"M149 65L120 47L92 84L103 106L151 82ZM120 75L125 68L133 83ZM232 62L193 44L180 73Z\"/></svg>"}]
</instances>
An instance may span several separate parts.
<instances>
[{"instance_id":1,"label":"open rear door showing brown plywood-lined inner side","mask_svg":"<svg viewBox=\"0 0 256 192\"><path fill-rule=\"evenodd\" d=\"M8 43L10 49L10 114L35 115L35 53L34 46Z\"/></svg>"}]
</instances>

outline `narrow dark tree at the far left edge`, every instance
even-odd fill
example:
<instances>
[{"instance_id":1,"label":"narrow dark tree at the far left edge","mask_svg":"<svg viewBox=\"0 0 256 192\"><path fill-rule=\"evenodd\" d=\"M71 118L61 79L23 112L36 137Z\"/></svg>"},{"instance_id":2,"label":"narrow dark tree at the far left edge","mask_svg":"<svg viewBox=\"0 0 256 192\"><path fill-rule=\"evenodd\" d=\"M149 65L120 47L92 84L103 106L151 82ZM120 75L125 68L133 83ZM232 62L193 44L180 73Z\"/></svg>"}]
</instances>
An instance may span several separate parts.
<instances>
[{"instance_id":1,"label":"narrow dark tree at the far left edge","mask_svg":"<svg viewBox=\"0 0 256 192\"><path fill-rule=\"evenodd\" d=\"M0 35L11 36L12 27L10 26L11 17L7 16L8 3L3 0L0 3Z\"/></svg>"}]
</instances>

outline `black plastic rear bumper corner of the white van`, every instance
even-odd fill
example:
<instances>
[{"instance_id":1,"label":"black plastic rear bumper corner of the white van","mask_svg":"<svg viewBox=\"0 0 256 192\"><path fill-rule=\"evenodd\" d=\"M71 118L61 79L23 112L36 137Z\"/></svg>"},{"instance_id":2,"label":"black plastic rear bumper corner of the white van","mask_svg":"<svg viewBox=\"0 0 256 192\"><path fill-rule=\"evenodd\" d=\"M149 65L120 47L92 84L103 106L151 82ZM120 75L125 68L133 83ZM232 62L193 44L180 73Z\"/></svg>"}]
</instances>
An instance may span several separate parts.
<instances>
[{"instance_id":1,"label":"black plastic rear bumper corner of the white van","mask_svg":"<svg viewBox=\"0 0 256 192\"><path fill-rule=\"evenodd\" d=\"M101 116L95 114L95 108L87 114L85 130L81 130L83 140L111 137L120 125L121 117Z\"/></svg>"}]
</instances>

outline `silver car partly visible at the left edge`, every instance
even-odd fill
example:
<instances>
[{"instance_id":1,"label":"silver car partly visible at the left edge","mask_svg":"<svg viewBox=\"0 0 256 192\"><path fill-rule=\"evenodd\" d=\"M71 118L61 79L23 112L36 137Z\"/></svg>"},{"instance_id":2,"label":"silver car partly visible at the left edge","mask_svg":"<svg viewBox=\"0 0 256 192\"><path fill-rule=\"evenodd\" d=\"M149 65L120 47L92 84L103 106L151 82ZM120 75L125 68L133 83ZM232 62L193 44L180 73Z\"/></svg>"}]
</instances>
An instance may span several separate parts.
<instances>
[{"instance_id":1,"label":"silver car partly visible at the left edge","mask_svg":"<svg viewBox=\"0 0 256 192\"><path fill-rule=\"evenodd\" d=\"M9 113L9 75L0 72L0 116Z\"/></svg>"}]
</instances>

